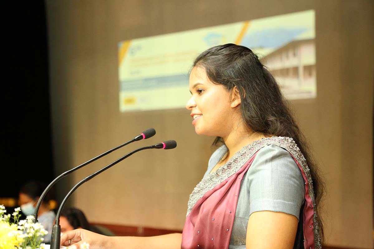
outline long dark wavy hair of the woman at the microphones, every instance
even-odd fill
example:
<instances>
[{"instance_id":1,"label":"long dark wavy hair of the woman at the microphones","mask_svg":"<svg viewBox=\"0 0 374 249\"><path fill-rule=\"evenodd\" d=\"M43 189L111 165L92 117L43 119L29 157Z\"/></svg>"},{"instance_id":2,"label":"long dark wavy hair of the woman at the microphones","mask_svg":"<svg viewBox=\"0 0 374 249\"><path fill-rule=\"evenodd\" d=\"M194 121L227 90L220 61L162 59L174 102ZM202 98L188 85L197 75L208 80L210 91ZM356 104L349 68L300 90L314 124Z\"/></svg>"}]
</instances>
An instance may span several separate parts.
<instances>
[{"instance_id":1,"label":"long dark wavy hair of the woman at the microphones","mask_svg":"<svg viewBox=\"0 0 374 249\"><path fill-rule=\"evenodd\" d=\"M291 137L300 148L310 168L316 208L319 207L323 184L316 172L316 165L309 153L309 146L297 126L286 100L274 77L251 49L236 44L212 47L201 53L193 66L205 68L214 84L230 91L236 86L240 93L242 118L246 126L265 136ZM223 138L215 138L213 145L224 144ZM323 227L317 217L321 240ZM323 241L322 241L323 242Z\"/></svg>"}]
</instances>

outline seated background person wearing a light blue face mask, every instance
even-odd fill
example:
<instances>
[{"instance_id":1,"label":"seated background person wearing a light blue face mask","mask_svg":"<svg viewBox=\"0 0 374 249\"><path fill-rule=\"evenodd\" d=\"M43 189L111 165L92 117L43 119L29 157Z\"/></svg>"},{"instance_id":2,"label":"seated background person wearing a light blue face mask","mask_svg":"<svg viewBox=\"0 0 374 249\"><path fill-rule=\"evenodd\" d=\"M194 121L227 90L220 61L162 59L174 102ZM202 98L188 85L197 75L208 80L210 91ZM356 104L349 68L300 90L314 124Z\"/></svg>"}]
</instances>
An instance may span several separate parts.
<instances>
[{"instance_id":1,"label":"seated background person wearing a light blue face mask","mask_svg":"<svg viewBox=\"0 0 374 249\"><path fill-rule=\"evenodd\" d=\"M46 185L37 181L30 181L21 187L19 191L19 205L21 211L25 215L34 215L36 204L42 195ZM55 220L55 212L49 208L50 195L46 195L40 204L38 212L38 221L43 225L44 229L47 230L46 236L44 236L44 243L50 243L50 237L52 234L53 221Z\"/></svg>"}]
</instances>

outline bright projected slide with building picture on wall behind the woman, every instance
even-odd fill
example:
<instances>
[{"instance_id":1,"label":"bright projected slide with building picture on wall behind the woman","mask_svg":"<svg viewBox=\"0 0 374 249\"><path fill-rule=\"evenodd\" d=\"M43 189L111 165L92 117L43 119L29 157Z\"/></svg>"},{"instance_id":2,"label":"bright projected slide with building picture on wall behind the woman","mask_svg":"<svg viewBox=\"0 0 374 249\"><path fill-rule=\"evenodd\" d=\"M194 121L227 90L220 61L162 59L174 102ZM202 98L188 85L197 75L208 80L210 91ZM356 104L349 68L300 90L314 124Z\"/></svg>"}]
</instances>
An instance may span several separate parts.
<instances>
[{"instance_id":1,"label":"bright projected slide with building picture on wall behind the woman","mask_svg":"<svg viewBox=\"0 0 374 249\"><path fill-rule=\"evenodd\" d=\"M225 43L252 49L288 99L316 96L313 10L119 43L120 111L184 108L196 56Z\"/></svg>"}]
</instances>

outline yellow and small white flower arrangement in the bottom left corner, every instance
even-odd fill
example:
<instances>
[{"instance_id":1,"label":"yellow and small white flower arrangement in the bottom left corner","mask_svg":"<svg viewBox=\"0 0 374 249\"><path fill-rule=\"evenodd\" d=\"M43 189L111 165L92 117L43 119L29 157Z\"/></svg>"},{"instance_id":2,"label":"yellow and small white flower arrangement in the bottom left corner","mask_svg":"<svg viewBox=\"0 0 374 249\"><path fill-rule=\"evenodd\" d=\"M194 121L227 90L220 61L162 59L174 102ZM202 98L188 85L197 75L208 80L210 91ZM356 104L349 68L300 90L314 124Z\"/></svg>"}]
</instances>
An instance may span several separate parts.
<instances>
[{"instance_id":1,"label":"yellow and small white flower arrangement in the bottom left corner","mask_svg":"<svg viewBox=\"0 0 374 249\"><path fill-rule=\"evenodd\" d=\"M40 223L34 223L33 215L19 220L21 208L15 208L12 215L0 205L0 248L2 249L43 249L43 236L48 232Z\"/></svg>"}]
</instances>

